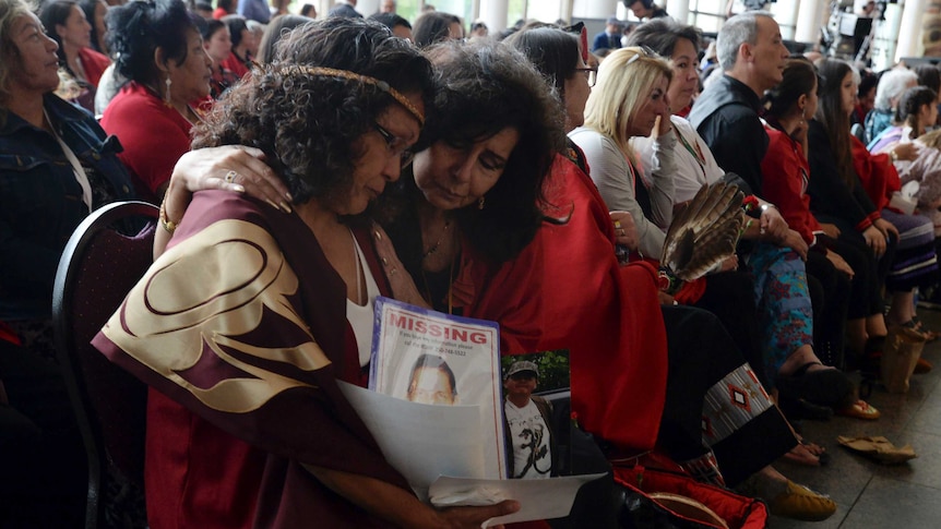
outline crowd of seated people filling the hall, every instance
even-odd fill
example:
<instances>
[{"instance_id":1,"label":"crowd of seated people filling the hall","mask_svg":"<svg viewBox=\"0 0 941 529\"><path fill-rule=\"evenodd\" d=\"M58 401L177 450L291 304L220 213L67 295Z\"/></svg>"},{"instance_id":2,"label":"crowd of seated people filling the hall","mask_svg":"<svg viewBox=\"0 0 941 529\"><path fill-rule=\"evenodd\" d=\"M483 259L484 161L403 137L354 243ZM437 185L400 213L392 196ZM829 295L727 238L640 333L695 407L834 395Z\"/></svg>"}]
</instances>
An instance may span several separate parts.
<instances>
[{"instance_id":1,"label":"crowd of seated people filling the hall","mask_svg":"<svg viewBox=\"0 0 941 529\"><path fill-rule=\"evenodd\" d=\"M504 354L569 349L573 409L609 457L656 450L781 516L836 510L773 464L824 456L788 420L879 418L847 372L871 369L892 329L933 338L915 297L938 273L937 71L883 74L863 142L856 70L790 58L763 12L726 22L722 74L700 93L701 33L668 17L598 61L584 29L531 22L466 41L460 17L433 11L412 26L273 8L258 39L236 5L207 22L181 0L39 14L0 0L0 410L15 412L0 418L19 428L3 442L33 456L11 467L23 476L51 472L37 447L72 476L16 496L72 502L34 521L80 519L84 495L51 340L58 259L90 212L135 196L160 205L157 261L95 345L151 386L151 527L479 527L519 507L422 504L338 390L367 383L380 294L496 321ZM99 125L90 104L111 60ZM747 195L736 252L668 289L667 230L719 181ZM914 211L895 202L908 181ZM236 239L245 262L266 256L239 286L252 303L226 282L240 257L213 251ZM158 329L178 316L145 309L213 292L228 293L174 333ZM267 389L226 362L202 368L235 393L181 383L209 335L250 335L239 361ZM765 397L727 417L729 384ZM236 411L234 395L257 406ZM277 426L301 421L317 428Z\"/></svg>"}]
</instances>

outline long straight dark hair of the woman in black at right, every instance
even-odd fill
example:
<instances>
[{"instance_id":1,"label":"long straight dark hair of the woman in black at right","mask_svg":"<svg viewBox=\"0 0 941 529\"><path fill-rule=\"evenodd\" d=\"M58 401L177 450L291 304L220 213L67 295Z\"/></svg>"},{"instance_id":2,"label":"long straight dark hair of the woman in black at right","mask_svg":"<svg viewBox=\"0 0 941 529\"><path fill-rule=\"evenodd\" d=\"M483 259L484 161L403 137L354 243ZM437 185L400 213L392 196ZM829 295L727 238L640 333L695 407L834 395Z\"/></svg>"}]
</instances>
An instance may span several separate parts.
<instances>
[{"instance_id":1,"label":"long straight dark hair of the woman in black at right","mask_svg":"<svg viewBox=\"0 0 941 529\"><path fill-rule=\"evenodd\" d=\"M853 69L844 61L837 59L823 59L818 62L820 72L820 86L817 94L820 103L817 106L817 115L813 119L823 125L830 147L836 158L836 168L843 182L853 188L858 182L856 171L853 168L853 143L849 132L849 117L843 108L843 93L841 85L846 74L853 73Z\"/></svg>"}]
</instances>

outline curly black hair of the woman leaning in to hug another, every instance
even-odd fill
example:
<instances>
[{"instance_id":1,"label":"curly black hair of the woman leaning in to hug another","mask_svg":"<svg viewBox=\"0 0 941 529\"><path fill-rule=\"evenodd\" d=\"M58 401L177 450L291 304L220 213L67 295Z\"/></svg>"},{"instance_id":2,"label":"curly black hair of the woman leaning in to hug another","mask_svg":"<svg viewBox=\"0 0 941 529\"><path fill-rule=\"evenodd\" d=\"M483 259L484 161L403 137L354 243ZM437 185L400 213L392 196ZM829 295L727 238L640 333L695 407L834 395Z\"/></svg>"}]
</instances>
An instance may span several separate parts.
<instances>
[{"instance_id":1,"label":"curly black hair of the woman leaning in to hug another","mask_svg":"<svg viewBox=\"0 0 941 529\"><path fill-rule=\"evenodd\" d=\"M418 149L436 142L469 146L505 128L520 134L503 175L487 192L486 207L474 204L455 212L475 251L491 263L510 261L532 242L545 220L544 183L565 139L562 106L546 79L504 44L442 43L426 55L438 68L439 89ZM407 215L415 201L422 200L412 176L386 194L383 220ZM405 263L413 256L400 252L400 257Z\"/></svg>"}]
</instances>

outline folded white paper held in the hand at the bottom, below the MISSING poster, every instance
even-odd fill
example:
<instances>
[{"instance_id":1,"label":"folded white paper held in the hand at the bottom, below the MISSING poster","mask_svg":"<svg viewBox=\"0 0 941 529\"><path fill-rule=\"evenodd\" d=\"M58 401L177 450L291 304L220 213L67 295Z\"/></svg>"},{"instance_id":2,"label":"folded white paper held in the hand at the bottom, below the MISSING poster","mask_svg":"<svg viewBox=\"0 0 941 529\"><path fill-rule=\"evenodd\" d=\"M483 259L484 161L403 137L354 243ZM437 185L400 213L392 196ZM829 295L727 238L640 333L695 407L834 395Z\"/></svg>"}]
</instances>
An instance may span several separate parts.
<instances>
[{"instance_id":1,"label":"folded white paper held in the hand at the bottom, below the MISSING poster","mask_svg":"<svg viewBox=\"0 0 941 529\"><path fill-rule=\"evenodd\" d=\"M579 489L603 476L594 473L544 480L481 480L442 476L431 485L429 495L436 507L493 505L503 500L520 502L520 510L490 518L480 527L549 520L569 516Z\"/></svg>"}]
</instances>

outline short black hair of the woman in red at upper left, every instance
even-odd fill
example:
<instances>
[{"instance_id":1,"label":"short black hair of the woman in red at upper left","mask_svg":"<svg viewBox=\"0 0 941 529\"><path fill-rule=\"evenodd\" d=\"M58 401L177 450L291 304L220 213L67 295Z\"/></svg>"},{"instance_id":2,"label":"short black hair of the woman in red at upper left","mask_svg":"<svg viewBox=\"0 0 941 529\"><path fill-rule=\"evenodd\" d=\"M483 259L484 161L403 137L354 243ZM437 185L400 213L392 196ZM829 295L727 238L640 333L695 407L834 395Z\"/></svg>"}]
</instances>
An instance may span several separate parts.
<instances>
[{"instance_id":1,"label":"short black hair of the woman in red at upper left","mask_svg":"<svg viewBox=\"0 0 941 529\"><path fill-rule=\"evenodd\" d=\"M157 48L167 60L187 60L187 33L199 32L204 23L187 10L182 0L135 0L108 10L108 49L115 70L128 81L154 83L158 76L154 62ZM120 28L120 29L117 29Z\"/></svg>"}]
</instances>

